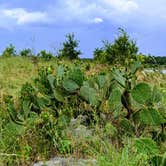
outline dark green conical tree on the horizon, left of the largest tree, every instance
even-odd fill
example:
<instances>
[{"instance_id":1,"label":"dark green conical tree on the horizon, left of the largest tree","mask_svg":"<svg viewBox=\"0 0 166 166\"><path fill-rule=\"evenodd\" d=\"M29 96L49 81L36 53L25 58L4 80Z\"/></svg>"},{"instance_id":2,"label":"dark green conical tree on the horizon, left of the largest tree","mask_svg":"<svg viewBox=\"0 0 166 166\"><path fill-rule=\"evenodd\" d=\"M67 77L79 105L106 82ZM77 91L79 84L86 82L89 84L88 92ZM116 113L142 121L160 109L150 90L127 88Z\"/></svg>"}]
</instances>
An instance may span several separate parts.
<instances>
[{"instance_id":1,"label":"dark green conical tree on the horizon, left of the largest tree","mask_svg":"<svg viewBox=\"0 0 166 166\"><path fill-rule=\"evenodd\" d=\"M63 48L59 51L59 57L68 59L78 59L81 54L80 50L77 50L79 42L74 39L74 34L66 35L67 40L63 43Z\"/></svg>"}]
</instances>

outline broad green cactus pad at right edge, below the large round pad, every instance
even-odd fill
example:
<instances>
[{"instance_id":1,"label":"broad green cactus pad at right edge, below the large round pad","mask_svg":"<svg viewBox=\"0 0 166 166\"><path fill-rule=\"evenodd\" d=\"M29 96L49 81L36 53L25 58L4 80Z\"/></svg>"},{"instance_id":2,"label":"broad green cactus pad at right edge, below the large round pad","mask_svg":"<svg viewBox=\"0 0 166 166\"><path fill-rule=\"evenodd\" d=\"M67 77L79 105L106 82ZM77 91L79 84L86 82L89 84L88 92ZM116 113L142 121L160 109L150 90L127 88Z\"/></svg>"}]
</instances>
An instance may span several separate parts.
<instances>
[{"instance_id":1,"label":"broad green cactus pad at right edge, below the large round pad","mask_svg":"<svg viewBox=\"0 0 166 166\"><path fill-rule=\"evenodd\" d=\"M155 109L142 110L140 118L143 124L146 125L160 125L166 123L166 119Z\"/></svg>"}]
</instances>

